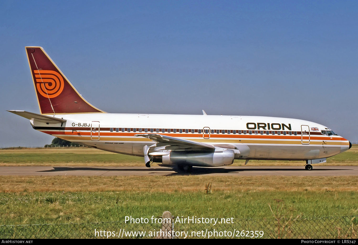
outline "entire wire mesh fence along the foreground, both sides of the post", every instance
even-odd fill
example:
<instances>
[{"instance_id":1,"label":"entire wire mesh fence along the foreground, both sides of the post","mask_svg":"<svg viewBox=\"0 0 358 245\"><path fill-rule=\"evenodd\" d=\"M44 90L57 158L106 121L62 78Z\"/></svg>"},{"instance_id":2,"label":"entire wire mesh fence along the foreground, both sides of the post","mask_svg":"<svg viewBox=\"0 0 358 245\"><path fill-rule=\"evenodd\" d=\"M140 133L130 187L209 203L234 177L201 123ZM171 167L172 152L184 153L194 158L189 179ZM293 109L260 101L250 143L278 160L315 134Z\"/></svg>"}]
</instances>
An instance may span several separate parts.
<instances>
[{"instance_id":1,"label":"entire wire mesh fence along the foreground, both sides of the post","mask_svg":"<svg viewBox=\"0 0 358 245\"><path fill-rule=\"evenodd\" d=\"M175 222L174 238L351 238L357 239L358 216L236 218L233 223ZM220 222L219 218L219 222ZM1 225L0 237L36 238L154 238L161 224L125 224L124 221L70 224ZM257 231L257 232L256 232ZM261 232L262 231L262 236Z\"/></svg>"}]
</instances>

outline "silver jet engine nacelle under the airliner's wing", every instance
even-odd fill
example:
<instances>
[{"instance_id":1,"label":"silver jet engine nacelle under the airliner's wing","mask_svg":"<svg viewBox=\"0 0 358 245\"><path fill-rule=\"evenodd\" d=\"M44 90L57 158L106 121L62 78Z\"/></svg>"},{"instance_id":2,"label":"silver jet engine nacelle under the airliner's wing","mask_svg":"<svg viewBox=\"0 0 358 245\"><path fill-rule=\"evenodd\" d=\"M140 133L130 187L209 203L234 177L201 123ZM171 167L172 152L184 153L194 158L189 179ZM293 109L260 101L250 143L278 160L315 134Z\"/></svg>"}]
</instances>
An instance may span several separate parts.
<instances>
[{"instance_id":1,"label":"silver jet engine nacelle under the airliner's wing","mask_svg":"<svg viewBox=\"0 0 358 245\"><path fill-rule=\"evenodd\" d=\"M168 155L154 156L153 162L218 167L232 164L234 162L234 151L228 149L208 153L170 152Z\"/></svg>"}]
</instances>

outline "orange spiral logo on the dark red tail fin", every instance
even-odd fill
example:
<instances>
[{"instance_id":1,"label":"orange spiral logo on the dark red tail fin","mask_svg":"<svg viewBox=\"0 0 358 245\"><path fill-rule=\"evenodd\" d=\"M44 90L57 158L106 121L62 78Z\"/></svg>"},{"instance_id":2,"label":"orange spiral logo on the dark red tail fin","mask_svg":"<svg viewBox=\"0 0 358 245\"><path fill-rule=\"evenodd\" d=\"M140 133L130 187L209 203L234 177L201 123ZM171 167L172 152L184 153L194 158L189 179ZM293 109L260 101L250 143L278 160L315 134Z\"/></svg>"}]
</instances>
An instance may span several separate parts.
<instances>
[{"instance_id":1,"label":"orange spiral logo on the dark red tail fin","mask_svg":"<svg viewBox=\"0 0 358 245\"><path fill-rule=\"evenodd\" d=\"M62 76L55 71L34 70L37 91L46 98L57 97L63 90Z\"/></svg>"}]
</instances>

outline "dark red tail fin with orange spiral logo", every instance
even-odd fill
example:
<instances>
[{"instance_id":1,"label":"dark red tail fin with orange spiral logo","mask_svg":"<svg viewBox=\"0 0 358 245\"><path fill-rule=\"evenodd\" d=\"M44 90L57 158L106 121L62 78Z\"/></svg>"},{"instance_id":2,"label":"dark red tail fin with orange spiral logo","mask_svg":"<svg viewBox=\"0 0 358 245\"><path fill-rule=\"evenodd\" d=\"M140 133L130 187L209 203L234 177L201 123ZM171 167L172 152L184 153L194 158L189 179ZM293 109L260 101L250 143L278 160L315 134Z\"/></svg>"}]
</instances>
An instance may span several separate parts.
<instances>
[{"instance_id":1,"label":"dark red tail fin with orange spiral logo","mask_svg":"<svg viewBox=\"0 0 358 245\"><path fill-rule=\"evenodd\" d=\"M42 47L26 47L41 114L101 113L72 86Z\"/></svg>"}]
</instances>

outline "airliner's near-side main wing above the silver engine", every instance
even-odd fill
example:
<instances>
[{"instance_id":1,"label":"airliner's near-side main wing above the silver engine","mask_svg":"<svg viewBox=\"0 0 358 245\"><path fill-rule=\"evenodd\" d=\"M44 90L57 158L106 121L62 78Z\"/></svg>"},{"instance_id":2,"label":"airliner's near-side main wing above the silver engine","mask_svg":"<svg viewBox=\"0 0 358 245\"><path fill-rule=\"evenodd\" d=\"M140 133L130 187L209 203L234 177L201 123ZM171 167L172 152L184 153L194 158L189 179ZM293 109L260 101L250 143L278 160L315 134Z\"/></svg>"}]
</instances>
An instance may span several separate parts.
<instances>
[{"instance_id":1,"label":"airliner's near-side main wing above the silver engine","mask_svg":"<svg viewBox=\"0 0 358 245\"><path fill-rule=\"evenodd\" d=\"M174 138L171 136L161 134L136 134L135 136L142 136L158 142L157 146L166 146L165 149L172 150L214 150L215 146L196 142L192 140Z\"/></svg>"}]
</instances>

